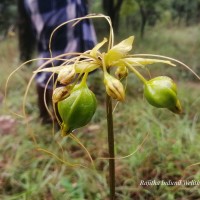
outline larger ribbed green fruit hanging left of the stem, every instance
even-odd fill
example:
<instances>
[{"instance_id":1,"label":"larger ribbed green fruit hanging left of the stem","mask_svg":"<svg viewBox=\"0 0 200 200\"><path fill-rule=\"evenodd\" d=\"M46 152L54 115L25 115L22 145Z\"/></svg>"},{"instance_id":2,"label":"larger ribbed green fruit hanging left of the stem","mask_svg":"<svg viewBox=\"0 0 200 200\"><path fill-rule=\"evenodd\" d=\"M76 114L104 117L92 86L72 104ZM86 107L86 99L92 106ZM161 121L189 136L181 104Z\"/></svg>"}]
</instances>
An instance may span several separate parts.
<instances>
[{"instance_id":1,"label":"larger ribbed green fruit hanging left of the stem","mask_svg":"<svg viewBox=\"0 0 200 200\"><path fill-rule=\"evenodd\" d=\"M87 85L75 86L69 97L58 102L58 112L63 120L63 132L68 134L88 124L96 107L96 97Z\"/></svg>"}]
</instances>

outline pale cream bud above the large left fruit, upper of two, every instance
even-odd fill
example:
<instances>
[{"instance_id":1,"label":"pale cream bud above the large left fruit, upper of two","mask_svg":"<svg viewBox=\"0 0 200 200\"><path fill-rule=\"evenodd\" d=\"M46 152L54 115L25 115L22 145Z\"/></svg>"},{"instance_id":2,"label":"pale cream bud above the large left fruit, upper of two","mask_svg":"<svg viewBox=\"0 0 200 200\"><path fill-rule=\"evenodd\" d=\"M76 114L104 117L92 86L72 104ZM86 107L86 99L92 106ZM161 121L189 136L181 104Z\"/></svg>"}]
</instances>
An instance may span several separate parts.
<instances>
[{"instance_id":1,"label":"pale cream bud above the large left fruit, upper of two","mask_svg":"<svg viewBox=\"0 0 200 200\"><path fill-rule=\"evenodd\" d=\"M76 71L74 69L74 65L67 65L65 68L60 70L57 80L61 84L66 85L74 79L75 75Z\"/></svg>"}]
</instances>

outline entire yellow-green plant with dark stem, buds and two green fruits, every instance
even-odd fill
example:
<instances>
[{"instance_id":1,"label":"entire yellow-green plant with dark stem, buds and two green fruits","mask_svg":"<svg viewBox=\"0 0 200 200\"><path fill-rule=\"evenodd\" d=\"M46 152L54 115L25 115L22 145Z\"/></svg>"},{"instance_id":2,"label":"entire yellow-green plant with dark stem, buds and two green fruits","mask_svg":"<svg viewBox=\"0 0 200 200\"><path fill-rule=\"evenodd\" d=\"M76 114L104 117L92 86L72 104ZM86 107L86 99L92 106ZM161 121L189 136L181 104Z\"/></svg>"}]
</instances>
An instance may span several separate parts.
<instances>
[{"instance_id":1,"label":"entire yellow-green plant with dark stem, buds and two green fruits","mask_svg":"<svg viewBox=\"0 0 200 200\"><path fill-rule=\"evenodd\" d=\"M130 36L114 45L112 24L110 18L104 15L90 15L63 23L53 31L51 40L55 31L61 26L64 26L69 22L74 22L74 25L76 25L76 23L85 18L106 19L110 25L109 38L104 38L93 49L87 52L70 52L55 58L49 58L45 64L35 71L35 74L39 72L52 72L52 74L57 74L52 101L55 106L58 107L58 112L62 119L61 122L59 121L62 135L67 136L72 135L75 129L85 126L92 119L97 107L97 101L95 94L87 86L87 77L89 73L96 70L101 70L103 72L101 74L103 74L103 84L105 85L107 93L106 110L109 147L110 199L115 199L115 154L112 99L124 102L125 87L122 80L130 73L135 74L143 84L144 97L148 103L154 107L166 108L173 113L180 114L182 113L182 107L180 100L178 99L175 82L167 76L158 76L146 80L138 69L145 69L148 65L154 63L162 63L171 66L175 66L175 63L179 63L192 73L194 72L187 65L173 58L153 54L130 54L134 36ZM101 51L101 48L106 45L107 51ZM49 49L51 52L51 48ZM68 56L68 58L66 58L66 56ZM64 61L63 64L61 66L44 68L45 65L51 62L53 63L56 59L62 59ZM195 75L199 78L197 74ZM57 87L58 82L62 86Z\"/></svg>"}]
</instances>

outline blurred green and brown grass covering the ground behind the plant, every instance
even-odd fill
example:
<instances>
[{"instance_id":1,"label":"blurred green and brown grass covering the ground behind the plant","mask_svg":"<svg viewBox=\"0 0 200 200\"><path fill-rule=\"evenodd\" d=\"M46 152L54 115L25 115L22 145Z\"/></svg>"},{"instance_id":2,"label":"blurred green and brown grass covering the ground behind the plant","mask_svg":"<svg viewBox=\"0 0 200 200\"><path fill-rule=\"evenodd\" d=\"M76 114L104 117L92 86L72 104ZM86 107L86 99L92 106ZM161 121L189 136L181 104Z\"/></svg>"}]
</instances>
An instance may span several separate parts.
<instances>
[{"instance_id":1,"label":"blurred green and brown grass covering the ground behind the plant","mask_svg":"<svg viewBox=\"0 0 200 200\"><path fill-rule=\"evenodd\" d=\"M156 30L156 31L155 31ZM173 56L199 70L199 27L147 30L143 41L136 37L135 52ZM122 33L119 38L128 37ZM190 47L190 48L189 48ZM0 95L4 96L5 81L18 65L16 39L1 45ZM104 88L97 75L90 77L90 85L97 93L99 107L93 121L77 130L76 136L94 159L92 169L86 152L72 139L52 134L52 126L42 126L38 119L36 95L32 85L27 102L29 126L26 119L17 118L9 111L20 113L25 87L33 67L25 67L13 76L7 107L1 102L0 117L13 119L13 128L0 127L0 199L2 200L61 200L108 199L107 134ZM142 95L142 85L133 75L128 78L127 97L114 113L116 156L116 191L118 199L198 199L199 186L142 186L141 180L178 181L200 180L200 95L194 76L179 68L149 67L151 73L166 73L176 78L184 114L176 116L165 109L148 105ZM178 72L177 72L178 71ZM181 72L181 73L180 73ZM185 75L184 75L185 74ZM186 78L186 81L184 81ZM94 85L92 83L95 83ZM32 140L37 139L37 145ZM142 146L141 146L142 144ZM55 156L38 151L44 148L70 163L87 166L70 167ZM64 153L63 153L64 151Z\"/></svg>"}]
</instances>

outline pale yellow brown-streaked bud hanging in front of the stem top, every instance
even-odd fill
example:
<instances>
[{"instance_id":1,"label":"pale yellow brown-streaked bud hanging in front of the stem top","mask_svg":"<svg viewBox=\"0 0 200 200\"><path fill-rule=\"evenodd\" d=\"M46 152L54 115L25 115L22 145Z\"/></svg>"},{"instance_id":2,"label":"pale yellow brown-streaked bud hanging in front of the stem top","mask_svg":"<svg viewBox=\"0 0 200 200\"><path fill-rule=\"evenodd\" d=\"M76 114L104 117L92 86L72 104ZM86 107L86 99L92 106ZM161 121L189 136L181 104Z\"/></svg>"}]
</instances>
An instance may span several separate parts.
<instances>
[{"instance_id":1,"label":"pale yellow brown-streaked bud hanging in front of the stem top","mask_svg":"<svg viewBox=\"0 0 200 200\"><path fill-rule=\"evenodd\" d=\"M104 75L104 84L106 86L106 92L110 97L117 99L118 101L124 101L124 87L118 79L106 73Z\"/></svg>"}]
</instances>

